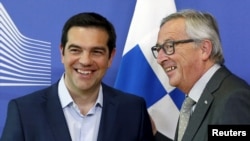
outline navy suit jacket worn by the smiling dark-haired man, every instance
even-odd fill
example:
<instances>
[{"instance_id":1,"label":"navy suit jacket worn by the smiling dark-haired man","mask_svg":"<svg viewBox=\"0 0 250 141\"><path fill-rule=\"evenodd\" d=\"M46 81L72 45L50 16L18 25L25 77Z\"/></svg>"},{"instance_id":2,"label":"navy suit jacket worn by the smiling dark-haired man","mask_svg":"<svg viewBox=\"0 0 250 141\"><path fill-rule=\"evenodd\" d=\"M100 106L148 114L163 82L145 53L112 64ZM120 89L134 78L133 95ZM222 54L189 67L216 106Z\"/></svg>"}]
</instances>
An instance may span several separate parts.
<instances>
[{"instance_id":1,"label":"navy suit jacket worn by the smiling dark-haired man","mask_svg":"<svg viewBox=\"0 0 250 141\"><path fill-rule=\"evenodd\" d=\"M151 141L144 99L103 85L98 141ZM1 141L71 141L58 83L11 100Z\"/></svg>"}]
</instances>

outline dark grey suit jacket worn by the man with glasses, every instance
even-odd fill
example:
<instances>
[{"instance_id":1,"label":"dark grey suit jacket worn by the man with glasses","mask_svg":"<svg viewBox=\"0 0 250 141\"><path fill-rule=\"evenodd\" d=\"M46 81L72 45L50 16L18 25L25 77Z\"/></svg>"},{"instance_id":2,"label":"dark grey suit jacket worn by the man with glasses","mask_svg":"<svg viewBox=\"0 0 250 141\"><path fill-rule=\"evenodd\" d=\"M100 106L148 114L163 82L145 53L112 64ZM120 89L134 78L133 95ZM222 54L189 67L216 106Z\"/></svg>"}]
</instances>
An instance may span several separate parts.
<instances>
[{"instance_id":1,"label":"dark grey suit jacket worn by the man with glasses","mask_svg":"<svg viewBox=\"0 0 250 141\"><path fill-rule=\"evenodd\" d=\"M208 125L221 124L250 124L250 86L224 66L209 80L196 103L182 141L207 141ZM177 137L178 128L175 140ZM158 135L156 141L168 139Z\"/></svg>"}]
</instances>

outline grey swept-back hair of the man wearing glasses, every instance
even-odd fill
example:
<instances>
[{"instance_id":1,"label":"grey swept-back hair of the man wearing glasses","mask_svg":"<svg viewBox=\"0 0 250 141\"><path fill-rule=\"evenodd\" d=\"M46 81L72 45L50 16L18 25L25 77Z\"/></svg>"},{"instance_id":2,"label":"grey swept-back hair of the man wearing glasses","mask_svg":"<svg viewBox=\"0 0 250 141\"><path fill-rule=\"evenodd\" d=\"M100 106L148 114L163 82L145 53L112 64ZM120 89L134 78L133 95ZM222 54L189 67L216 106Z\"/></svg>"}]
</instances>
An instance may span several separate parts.
<instances>
[{"instance_id":1,"label":"grey swept-back hair of the man wearing glasses","mask_svg":"<svg viewBox=\"0 0 250 141\"><path fill-rule=\"evenodd\" d=\"M160 27L166 22L178 18L185 19L186 33L190 38L198 41L210 40L213 45L210 59L214 60L215 63L224 64L225 60L216 19L209 13L186 9L163 18Z\"/></svg>"}]
</instances>

